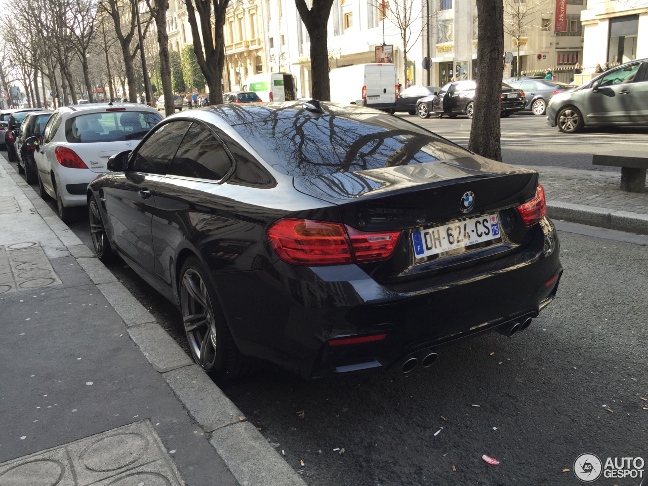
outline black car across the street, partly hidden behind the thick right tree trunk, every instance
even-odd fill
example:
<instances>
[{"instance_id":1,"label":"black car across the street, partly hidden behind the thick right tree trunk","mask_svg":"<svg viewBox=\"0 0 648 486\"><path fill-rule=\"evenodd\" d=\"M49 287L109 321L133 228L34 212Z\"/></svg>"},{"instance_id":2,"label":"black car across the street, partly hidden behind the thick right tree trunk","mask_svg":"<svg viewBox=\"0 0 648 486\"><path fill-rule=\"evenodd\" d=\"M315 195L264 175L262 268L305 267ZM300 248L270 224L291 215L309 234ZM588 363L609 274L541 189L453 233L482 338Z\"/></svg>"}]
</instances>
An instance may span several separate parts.
<instances>
[{"instance_id":1,"label":"black car across the street, partly hidden behind the thick right tree trunk","mask_svg":"<svg viewBox=\"0 0 648 486\"><path fill-rule=\"evenodd\" d=\"M448 83L436 95L419 100L416 111L421 118L428 118L432 113L446 114L450 118L465 113L467 117L472 118L476 87L476 83L472 80ZM502 83L500 113L503 117L522 110L524 104L524 91Z\"/></svg>"}]
</instances>

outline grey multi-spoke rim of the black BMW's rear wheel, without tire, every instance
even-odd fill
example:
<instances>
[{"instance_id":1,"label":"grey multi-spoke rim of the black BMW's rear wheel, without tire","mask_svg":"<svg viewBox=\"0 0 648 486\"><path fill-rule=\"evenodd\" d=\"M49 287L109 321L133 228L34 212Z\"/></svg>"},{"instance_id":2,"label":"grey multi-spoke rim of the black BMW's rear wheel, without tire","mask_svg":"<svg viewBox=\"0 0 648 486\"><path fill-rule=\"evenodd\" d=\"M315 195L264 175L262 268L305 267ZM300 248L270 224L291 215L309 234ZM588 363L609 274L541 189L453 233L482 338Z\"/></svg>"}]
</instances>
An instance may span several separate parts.
<instances>
[{"instance_id":1,"label":"grey multi-spoke rim of the black BMW's rear wheel, without tire","mask_svg":"<svg viewBox=\"0 0 648 486\"><path fill-rule=\"evenodd\" d=\"M202 277L187 268L181 280L182 320L191 354L200 367L211 371L216 362L218 340L216 316Z\"/></svg>"}]
</instances>

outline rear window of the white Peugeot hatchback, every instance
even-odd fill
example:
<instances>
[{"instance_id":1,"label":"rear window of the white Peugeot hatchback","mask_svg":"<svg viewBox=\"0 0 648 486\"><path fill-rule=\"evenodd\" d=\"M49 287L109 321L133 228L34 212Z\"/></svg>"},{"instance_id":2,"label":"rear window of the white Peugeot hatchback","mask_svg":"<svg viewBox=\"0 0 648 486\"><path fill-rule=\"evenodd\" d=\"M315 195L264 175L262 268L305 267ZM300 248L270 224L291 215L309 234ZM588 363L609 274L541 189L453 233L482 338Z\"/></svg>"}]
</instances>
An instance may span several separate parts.
<instances>
[{"instance_id":1,"label":"rear window of the white Peugeot hatchback","mask_svg":"<svg viewBox=\"0 0 648 486\"><path fill-rule=\"evenodd\" d=\"M150 111L87 113L65 121L65 139L71 143L139 140L161 119Z\"/></svg>"}]
</instances>

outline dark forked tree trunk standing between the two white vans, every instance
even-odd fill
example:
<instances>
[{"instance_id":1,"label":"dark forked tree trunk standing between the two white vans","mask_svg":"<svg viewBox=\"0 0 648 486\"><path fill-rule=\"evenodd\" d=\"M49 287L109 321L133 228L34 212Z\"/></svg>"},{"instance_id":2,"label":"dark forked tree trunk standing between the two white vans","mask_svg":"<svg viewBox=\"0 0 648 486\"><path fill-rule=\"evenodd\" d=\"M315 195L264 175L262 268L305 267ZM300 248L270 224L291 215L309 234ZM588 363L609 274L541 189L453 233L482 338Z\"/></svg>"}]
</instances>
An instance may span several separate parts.
<instances>
[{"instance_id":1,"label":"dark forked tree trunk standing between the two white vans","mask_svg":"<svg viewBox=\"0 0 648 486\"><path fill-rule=\"evenodd\" d=\"M333 0L295 0L297 12L310 37L311 93L317 100L330 100L329 40L327 23Z\"/></svg>"}]
</instances>

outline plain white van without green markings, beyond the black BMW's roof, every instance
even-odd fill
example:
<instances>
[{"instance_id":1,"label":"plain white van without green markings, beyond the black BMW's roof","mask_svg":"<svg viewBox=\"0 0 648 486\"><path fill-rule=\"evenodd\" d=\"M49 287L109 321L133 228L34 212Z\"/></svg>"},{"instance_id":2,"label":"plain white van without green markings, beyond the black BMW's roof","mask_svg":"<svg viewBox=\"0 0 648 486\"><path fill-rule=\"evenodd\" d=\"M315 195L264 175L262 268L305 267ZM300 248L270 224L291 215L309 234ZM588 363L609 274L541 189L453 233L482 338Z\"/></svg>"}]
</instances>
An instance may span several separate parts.
<instances>
[{"instance_id":1,"label":"plain white van without green markings, beyond the black BMW's roof","mask_svg":"<svg viewBox=\"0 0 648 486\"><path fill-rule=\"evenodd\" d=\"M329 73L330 100L394 112L399 78L393 64L358 64Z\"/></svg>"}]
</instances>

